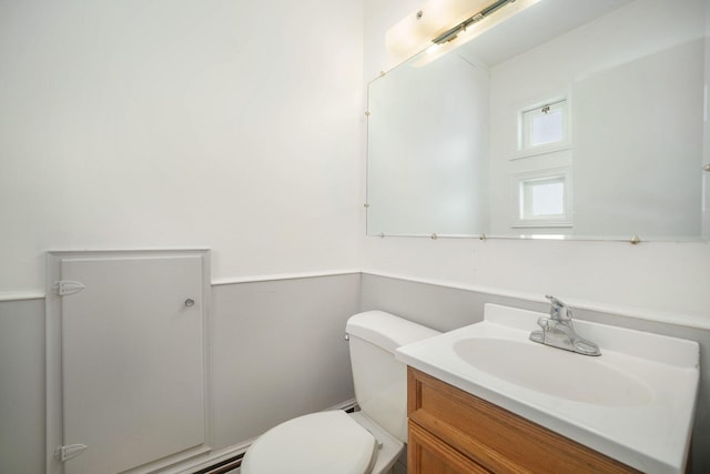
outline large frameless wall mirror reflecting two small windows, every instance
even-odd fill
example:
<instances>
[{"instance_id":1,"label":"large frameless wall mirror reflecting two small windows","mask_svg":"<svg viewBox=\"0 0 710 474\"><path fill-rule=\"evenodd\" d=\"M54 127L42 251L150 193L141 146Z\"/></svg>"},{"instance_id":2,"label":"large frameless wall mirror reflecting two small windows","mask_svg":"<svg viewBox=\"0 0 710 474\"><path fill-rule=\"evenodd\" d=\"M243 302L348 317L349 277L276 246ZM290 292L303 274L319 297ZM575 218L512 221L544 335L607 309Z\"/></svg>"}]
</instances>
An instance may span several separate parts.
<instances>
[{"instance_id":1,"label":"large frameless wall mirror reflecting two small windows","mask_svg":"<svg viewBox=\"0 0 710 474\"><path fill-rule=\"evenodd\" d=\"M541 0L368 87L371 235L708 239L706 0Z\"/></svg>"}]
</instances>

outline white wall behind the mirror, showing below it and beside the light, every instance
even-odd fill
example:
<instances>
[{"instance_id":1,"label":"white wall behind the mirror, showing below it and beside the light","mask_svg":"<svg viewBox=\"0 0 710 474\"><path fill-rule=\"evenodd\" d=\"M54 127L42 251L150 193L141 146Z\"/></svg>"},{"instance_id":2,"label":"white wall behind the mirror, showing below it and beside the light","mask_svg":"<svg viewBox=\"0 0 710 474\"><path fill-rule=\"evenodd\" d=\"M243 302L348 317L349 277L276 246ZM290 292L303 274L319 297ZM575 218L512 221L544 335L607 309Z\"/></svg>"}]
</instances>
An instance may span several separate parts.
<instances>
[{"instance_id":1,"label":"white wall behind the mirror, showing below it and beside the light","mask_svg":"<svg viewBox=\"0 0 710 474\"><path fill-rule=\"evenodd\" d=\"M364 82L394 65L386 30L420 2L365 0ZM366 238L363 268L629 313L710 321L710 244Z\"/></svg>"}]
</instances>

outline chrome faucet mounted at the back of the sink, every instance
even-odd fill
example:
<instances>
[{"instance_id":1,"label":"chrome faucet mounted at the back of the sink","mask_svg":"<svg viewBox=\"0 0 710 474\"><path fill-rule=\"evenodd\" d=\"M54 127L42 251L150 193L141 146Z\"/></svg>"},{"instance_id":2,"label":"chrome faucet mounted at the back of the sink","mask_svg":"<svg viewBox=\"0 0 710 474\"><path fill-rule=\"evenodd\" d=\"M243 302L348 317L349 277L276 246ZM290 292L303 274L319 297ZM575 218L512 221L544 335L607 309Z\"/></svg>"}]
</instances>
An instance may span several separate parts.
<instances>
[{"instance_id":1,"label":"chrome faucet mounted at the back of the sink","mask_svg":"<svg viewBox=\"0 0 710 474\"><path fill-rule=\"evenodd\" d=\"M545 297L552 303L550 317L540 317L537 320L537 324L542 330L532 331L530 333L530 341L584 355L601 355L597 344L580 337L575 332L572 311L555 296L548 294L545 295Z\"/></svg>"}]
</instances>

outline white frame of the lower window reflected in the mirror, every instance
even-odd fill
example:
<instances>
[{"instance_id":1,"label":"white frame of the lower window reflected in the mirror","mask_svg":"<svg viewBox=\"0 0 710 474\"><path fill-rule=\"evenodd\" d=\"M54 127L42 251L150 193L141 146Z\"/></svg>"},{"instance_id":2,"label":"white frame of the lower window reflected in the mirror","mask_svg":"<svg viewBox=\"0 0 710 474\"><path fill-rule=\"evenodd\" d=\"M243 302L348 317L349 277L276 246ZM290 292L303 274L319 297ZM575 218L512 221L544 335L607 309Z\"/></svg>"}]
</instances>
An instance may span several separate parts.
<instances>
[{"instance_id":1,"label":"white frame of the lower window reflected in the mirror","mask_svg":"<svg viewBox=\"0 0 710 474\"><path fill-rule=\"evenodd\" d=\"M535 181L561 180L564 183L564 205L559 215L531 216L527 213L531 204L526 202L526 183ZM516 173L514 175L516 220L513 228L571 228L572 226L572 193L571 172L569 168L554 168L534 172Z\"/></svg>"}]
</instances>

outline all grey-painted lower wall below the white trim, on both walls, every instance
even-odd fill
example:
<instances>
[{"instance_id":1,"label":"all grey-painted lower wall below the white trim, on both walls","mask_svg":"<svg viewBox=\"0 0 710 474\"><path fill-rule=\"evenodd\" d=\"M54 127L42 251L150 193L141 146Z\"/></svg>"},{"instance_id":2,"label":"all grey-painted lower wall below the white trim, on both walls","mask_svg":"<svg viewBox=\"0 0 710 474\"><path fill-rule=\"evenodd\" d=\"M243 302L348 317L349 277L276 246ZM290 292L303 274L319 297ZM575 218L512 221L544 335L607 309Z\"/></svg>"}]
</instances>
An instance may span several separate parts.
<instances>
[{"instance_id":1,"label":"all grey-painted lower wall below the white trim, on both walls","mask_svg":"<svg viewBox=\"0 0 710 474\"><path fill-rule=\"evenodd\" d=\"M353 396L343 342L351 314L384 310L448 331L480 321L487 302L549 309L542 302L358 272L220 283L212 286L212 426L217 451ZM710 331L582 309L575 309L575 316L700 342L692 472L710 472L710 452L704 448L710 446ZM43 472L43 299L0 302L0 472Z\"/></svg>"}]
</instances>

